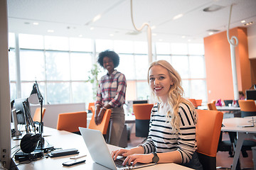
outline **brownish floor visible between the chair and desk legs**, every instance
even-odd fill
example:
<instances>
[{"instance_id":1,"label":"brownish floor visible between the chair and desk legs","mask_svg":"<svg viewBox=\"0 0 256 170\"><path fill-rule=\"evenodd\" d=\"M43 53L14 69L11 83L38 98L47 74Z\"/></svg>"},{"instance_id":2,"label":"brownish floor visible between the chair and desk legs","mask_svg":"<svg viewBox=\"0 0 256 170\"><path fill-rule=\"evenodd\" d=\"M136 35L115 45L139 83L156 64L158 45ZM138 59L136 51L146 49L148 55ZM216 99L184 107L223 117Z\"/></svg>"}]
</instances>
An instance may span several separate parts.
<instances>
[{"instance_id":1,"label":"brownish floor visible between the chair and desk legs","mask_svg":"<svg viewBox=\"0 0 256 170\"><path fill-rule=\"evenodd\" d=\"M226 136L227 135L227 136ZM223 134L223 140L225 137L228 137L228 134ZM136 147L137 145L141 144L144 140L143 137L136 137L134 133L130 135L130 140L128 141L128 147ZM252 162L252 151L247 151L248 157L243 158L242 154L240 155L240 167L242 169L250 168L253 169L253 162ZM217 167L230 167L233 164L233 157L229 157L228 152L217 152Z\"/></svg>"}]
</instances>

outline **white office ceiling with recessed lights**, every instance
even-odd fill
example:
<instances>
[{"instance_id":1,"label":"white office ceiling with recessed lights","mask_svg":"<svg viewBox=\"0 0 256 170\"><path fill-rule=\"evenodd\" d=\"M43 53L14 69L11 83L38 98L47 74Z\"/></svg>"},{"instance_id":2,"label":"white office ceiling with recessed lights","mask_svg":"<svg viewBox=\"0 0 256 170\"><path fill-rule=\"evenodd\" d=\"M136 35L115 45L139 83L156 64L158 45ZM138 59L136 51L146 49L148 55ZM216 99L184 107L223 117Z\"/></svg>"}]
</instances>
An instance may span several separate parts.
<instances>
[{"instance_id":1,"label":"white office ceiling with recessed lights","mask_svg":"<svg viewBox=\"0 0 256 170\"><path fill-rule=\"evenodd\" d=\"M137 28L148 23L153 42L203 42L209 30L256 24L256 0L134 0ZM113 40L146 41L146 27L132 25L130 0L8 0L9 32ZM212 5L218 11L203 11ZM211 8L210 8L211 9ZM178 14L181 18L174 19ZM101 18L93 22L95 16ZM250 26L245 23L253 22ZM36 22L38 25L33 25ZM53 33L48 33L53 30Z\"/></svg>"}]
</instances>

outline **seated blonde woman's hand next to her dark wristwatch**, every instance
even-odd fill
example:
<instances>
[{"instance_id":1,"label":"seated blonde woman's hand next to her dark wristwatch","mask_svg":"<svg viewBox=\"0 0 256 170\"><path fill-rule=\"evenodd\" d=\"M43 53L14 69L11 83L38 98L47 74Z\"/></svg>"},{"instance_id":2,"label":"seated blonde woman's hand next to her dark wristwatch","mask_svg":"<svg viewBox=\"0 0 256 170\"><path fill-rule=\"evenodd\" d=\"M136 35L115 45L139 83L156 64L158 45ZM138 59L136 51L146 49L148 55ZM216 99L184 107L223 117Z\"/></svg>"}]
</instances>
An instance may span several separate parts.
<instances>
[{"instance_id":1,"label":"seated blonde woman's hand next to her dark wristwatch","mask_svg":"<svg viewBox=\"0 0 256 170\"><path fill-rule=\"evenodd\" d=\"M132 162L132 166L137 164L138 162L140 163L149 163L152 162L153 154L132 154L126 157L124 159L123 165L128 164L130 165Z\"/></svg>"}]
</instances>

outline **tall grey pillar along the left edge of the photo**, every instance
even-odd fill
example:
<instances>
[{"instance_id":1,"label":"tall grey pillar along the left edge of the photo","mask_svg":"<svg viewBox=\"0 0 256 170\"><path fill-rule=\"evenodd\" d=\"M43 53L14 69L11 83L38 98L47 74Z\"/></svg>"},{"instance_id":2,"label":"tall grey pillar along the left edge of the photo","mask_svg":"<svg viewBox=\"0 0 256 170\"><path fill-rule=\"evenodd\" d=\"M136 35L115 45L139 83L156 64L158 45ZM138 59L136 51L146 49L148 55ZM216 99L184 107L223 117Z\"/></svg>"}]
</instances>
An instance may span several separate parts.
<instances>
[{"instance_id":1,"label":"tall grey pillar along the left edge of the photo","mask_svg":"<svg viewBox=\"0 0 256 170\"><path fill-rule=\"evenodd\" d=\"M11 106L8 62L7 1L0 1L0 160L11 162ZM4 156L4 157L3 157Z\"/></svg>"}]
</instances>

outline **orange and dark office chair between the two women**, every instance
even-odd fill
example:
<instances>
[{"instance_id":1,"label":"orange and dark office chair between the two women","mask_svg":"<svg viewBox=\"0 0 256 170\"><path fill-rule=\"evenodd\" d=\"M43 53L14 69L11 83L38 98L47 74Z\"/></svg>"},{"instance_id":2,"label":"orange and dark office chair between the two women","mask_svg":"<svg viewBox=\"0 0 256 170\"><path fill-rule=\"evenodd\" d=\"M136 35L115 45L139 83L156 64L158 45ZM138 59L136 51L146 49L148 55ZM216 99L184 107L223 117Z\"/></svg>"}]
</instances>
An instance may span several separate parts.
<instances>
[{"instance_id":1,"label":"orange and dark office chair between the two women","mask_svg":"<svg viewBox=\"0 0 256 170\"><path fill-rule=\"evenodd\" d=\"M151 109L153 108L153 106L154 104L149 104L149 103L132 105L134 115L135 115L135 136L136 137L148 137L149 120L151 115Z\"/></svg>"}]
</instances>

